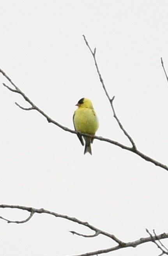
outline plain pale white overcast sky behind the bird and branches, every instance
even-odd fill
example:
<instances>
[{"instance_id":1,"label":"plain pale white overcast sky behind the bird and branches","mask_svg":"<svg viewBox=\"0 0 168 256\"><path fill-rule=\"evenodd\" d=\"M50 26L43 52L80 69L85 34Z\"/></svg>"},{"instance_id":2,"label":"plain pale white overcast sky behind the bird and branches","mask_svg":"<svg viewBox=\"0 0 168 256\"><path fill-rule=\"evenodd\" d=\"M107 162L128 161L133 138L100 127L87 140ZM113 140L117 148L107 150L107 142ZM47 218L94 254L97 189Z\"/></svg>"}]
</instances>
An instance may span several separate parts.
<instances>
[{"instance_id":1,"label":"plain pale white overcast sky behind the bird and branches","mask_svg":"<svg viewBox=\"0 0 168 256\"><path fill-rule=\"evenodd\" d=\"M130 145L113 118L82 34L92 48L115 110L140 151L168 164L167 0L1 0L0 68L51 118L73 128L75 104L92 100L97 135ZM7 82L0 75L0 84ZM8 84L8 83L7 83ZM92 153L74 134L46 122L0 86L0 203L75 216L123 241L168 230L168 172L109 143ZM22 220L27 212L0 210ZM45 214L22 225L0 221L0 255L67 256L116 245L82 238L88 229ZM164 240L168 246L168 241ZM111 256L158 255L153 243Z\"/></svg>"}]
</instances>

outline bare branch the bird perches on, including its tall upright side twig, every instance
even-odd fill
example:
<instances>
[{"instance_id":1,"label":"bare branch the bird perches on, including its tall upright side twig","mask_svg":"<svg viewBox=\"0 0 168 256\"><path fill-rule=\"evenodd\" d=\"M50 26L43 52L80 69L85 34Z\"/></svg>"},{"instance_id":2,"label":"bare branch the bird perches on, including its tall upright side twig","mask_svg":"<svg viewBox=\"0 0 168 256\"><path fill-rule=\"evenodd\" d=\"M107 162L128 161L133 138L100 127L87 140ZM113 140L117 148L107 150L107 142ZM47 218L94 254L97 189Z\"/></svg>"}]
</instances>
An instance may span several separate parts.
<instances>
[{"instance_id":1,"label":"bare branch the bird perches on, including its tall upright side twig","mask_svg":"<svg viewBox=\"0 0 168 256\"><path fill-rule=\"evenodd\" d=\"M44 113L44 111L42 111L39 107L37 107L37 106L25 95L25 93L23 93L23 92L19 89L19 87L17 87L17 86L14 84L14 82L12 82L11 78L9 78L9 76L7 76L7 74L5 74L5 72L4 72L2 69L0 69L0 73L2 73L3 76L5 76L5 78L11 83L11 85L14 87L14 89L12 89L11 87L9 87L9 86L6 85L5 83L3 83L4 87L6 87L7 89L9 89L9 91L12 91L12 92L14 92L14 93L20 94L20 95L25 99L25 101L27 101L27 102L30 104L30 106L31 106L31 107L26 108L26 107L22 107L22 106L19 105L17 102L15 102L15 104L16 104L19 108L21 108L21 109L23 109L23 110L27 110L27 111L28 111L28 110L36 110L36 111L38 111L40 114L42 114L42 116L44 116L44 117L47 119L47 121L48 121L49 123L53 123L53 124L57 125L58 127L60 127L61 129L63 129L64 131L67 131L67 132L69 132L69 133L74 133L74 134L80 134L80 135L87 136L87 137L92 137L92 138L95 138L96 140L101 140L101 141L104 141L104 142L111 143L111 144L116 145L116 146L118 146L118 147L120 147L120 148L122 148L122 149L126 149L126 150L128 150L128 151L131 151L131 152L137 154L138 156L140 156L141 158L143 158L144 160L146 160L146 161L148 161L148 162L151 162L151 163L154 163L154 165L159 166L159 167L165 169L166 171L168 171L168 166L167 166L167 165L164 165L163 163L160 163L160 162L154 160L153 158L151 158L151 157L149 157L149 156L147 156L147 155L141 153L141 152L136 148L136 145L135 145L133 139L132 139L131 136L127 133L127 131L124 129L123 125L121 124L120 120L118 119L118 117L117 117L117 115L116 115L116 113L115 113L115 109L114 109L114 106L113 106L114 96L113 96L113 98L110 99L110 96L109 96L109 94L108 94L108 92L107 92L107 90L106 90L106 87L105 87L105 85L104 85L103 78L102 78L102 76L101 76L101 74L100 74L100 72L99 72L99 68L98 68L98 65L97 65L97 61L96 61L96 59L95 59L96 49L94 49L94 52L93 52L92 49L90 48L90 46L88 45L88 42L87 42L87 40L86 40L86 38L85 38L84 35L83 35L83 37L84 37L85 43L87 44L89 50L91 51L91 53L92 53L92 55L93 55L93 57L94 57L94 62L95 62L95 66L96 66L96 69L97 69L97 73L99 74L99 78L100 78L101 84L103 85L103 89L104 89L104 91L105 91L105 93L106 93L106 96L108 97L108 100L110 101L110 104L111 104L111 107L112 107L112 110L113 110L113 115L114 115L115 119L117 120L120 129L122 129L122 131L124 132L124 134L127 136L127 138L129 139L129 141L131 142L132 147L128 147L127 145L124 145L124 144L122 144L122 143L120 143L120 142L117 142L117 141L114 141L114 140L111 140L111 139L108 139L108 138L104 138L104 137L102 137L102 136L93 136L93 135L86 134L86 133L80 133L80 132L78 132L78 131L71 130L71 129L69 129L68 127L65 127L65 126L61 125L60 123L58 123L58 122L56 122L55 120L53 120L52 118L50 118L50 116L48 116L46 113Z\"/></svg>"}]
</instances>

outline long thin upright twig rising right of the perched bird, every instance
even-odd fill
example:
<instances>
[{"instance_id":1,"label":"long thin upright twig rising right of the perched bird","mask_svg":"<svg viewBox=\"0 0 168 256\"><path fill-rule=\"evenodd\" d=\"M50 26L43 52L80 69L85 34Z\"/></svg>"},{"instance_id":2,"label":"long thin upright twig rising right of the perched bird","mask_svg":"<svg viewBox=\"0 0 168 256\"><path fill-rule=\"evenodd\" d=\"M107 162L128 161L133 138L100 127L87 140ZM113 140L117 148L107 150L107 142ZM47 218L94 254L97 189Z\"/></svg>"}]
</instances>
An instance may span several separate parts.
<instances>
[{"instance_id":1,"label":"long thin upright twig rising right of the perched bird","mask_svg":"<svg viewBox=\"0 0 168 256\"><path fill-rule=\"evenodd\" d=\"M98 75L99 75L100 82L101 82L101 84L102 84L102 86L103 86L104 92L105 92L105 94L106 94L106 96L107 96L107 98L108 98L108 100L109 100L109 102L110 102L110 105L111 105L111 108L112 108L112 111L113 111L113 116L114 116L114 118L117 120L117 123L118 123L120 129L123 131L123 133L127 136L127 138L129 139L129 141L130 141L131 144L133 145L133 148L136 149L136 145L135 145L135 143L134 143L134 141L133 141L133 138L131 138L131 136L127 133L126 129L124 129L122 123L120 122L120 120L118 119L118 117L117 117L117 115L116 115L116 113L115 113L115 109L114 109L114 106L113 106L113 100L114 100L114 97L115 97L115 96L113 96L113 98L111 99L110 96L109 96L109 94L108 94L108 91L107 91L107 89L106 89L106 87L105 87L105 85L104 85L104 81L103 81L102 75L101 75L101 73L100 73L100 71L99 71L99 67L98 67L98 64L97 64L96 57L95 57L95 53L96 53L96 50L95 50L95 49L96 49L96 48L94 49L94 52L93 52L92 49L91 49L91 47L90 47L90 45L88 44L88 41L87 41L87 39L86 39L86 37L85 37L84 34L83 34L83 38L84 38L84 40L85 40L85 43L86 43L88 49L90 50L90 52L92 53L92 56L93 56L93 58L94 58L94 64L95 64L97 73L98 73Z\"/></svg>"}]
</instances>

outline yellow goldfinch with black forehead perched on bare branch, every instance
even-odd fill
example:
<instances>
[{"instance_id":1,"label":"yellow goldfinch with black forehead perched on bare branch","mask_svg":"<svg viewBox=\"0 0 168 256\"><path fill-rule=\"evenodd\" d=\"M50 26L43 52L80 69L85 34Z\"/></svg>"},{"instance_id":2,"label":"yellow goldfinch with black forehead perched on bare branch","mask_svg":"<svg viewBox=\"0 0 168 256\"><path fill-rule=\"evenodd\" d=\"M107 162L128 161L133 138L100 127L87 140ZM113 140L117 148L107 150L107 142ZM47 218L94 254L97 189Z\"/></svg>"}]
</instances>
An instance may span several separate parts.
<instances>
[{"instance_id":1,"label":"yellow goldfinch with black forehead perched on bare branch","mask_svg":"<svg viewBox=\"0 0 168 256\"><path fill-rule=\"evenodd\" d=\"M92 102L87 98L81 98L78 103L76 104L78 109L74 112L73 115L73 123L75 131L79 131L81 133L88 133L88 134L95 134L99 127L99 122L94 111ZM85 140L85 151L84 154L87 152L92 154L91 145L93 143L94 138L86 137L81 135L77 135L82 146L84 146L83 138Z\"/></svg>"}]
</instances>

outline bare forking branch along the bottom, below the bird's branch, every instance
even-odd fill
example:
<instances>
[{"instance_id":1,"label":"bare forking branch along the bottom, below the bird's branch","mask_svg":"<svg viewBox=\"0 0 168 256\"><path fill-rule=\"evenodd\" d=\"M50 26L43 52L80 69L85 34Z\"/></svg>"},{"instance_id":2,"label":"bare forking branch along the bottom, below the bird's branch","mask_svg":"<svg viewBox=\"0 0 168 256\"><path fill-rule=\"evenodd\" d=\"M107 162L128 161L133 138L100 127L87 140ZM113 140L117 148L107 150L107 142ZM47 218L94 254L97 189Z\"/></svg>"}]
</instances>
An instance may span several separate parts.
<instances>
[{"instance_id":1,"label":"bare forking branch along the bottom, below the bird's branch","mask_svg":"<svg viewBox=\"0 0 168 256\"><path fill-rule=\"evenodd\" d=\"M23 211L30 212L30 216L28 216L28 218L26 218L25 220L22 220L22 221L17 221L17 220L16 221L11 221L11 220L7 220L6 218L0 216L0 218L2 220L5 220L7 223L16 223L16 224L25 223L25 222L28 222L34 216L35 213L38 213L38 214L45 213L45 214L53 215L57 218L64 218L64 219L69 220L71 222L78 223L80 225L88 227L90 230L95 232L95 234L93 234L93 235L84 235L84 234L80 234L76 231L69 231L72 234L76 234L78 236L83 236L85 238L91 238L91 237L95 237L95 236L98 236L99 234L101 234L101 235L107 236L108 238L111 238L113 241L118 243L118 245L114 246L114 247L110 247L110 248L107 248L107 249L101 249L101 250L93 251L93 252L87 252L87 253L79 254L79 255L76 255L76 256L98 255L98 254L102 254L102 253L116 251L116 250L119 250L119 249L122 249L122 248L136 247L136 246L138 246L142 243L147 243L147 242L151 242L151 241L152 242L154 242L154 241L159 241L160 242L160 240L168 238L168 233L162 233L162 234L156 235L156 233L154 232L154 236L152 236L152 234L150 234L149 231L147 231L150 235L149 237L140 238L138 240L131 241L131 242L123 242L122 240L118 239L115 235L113 235L111 233L108 233L108 232L105 232L101 229L98 229L97 227L94 227L93 225L90 225L88 222L83 222L81 220L78 220L77 218L70 217L70 216L67 216L67 215L64 215L64 214L59 214L59 213L53 212L53 211L48 211L48 210L45 210L43 208L37 209L37 208L21 206L21 205L5 205L5 204L0 205L0 208L20 209L20 210L23 210Z\"/></svg>"}]
</instances>

